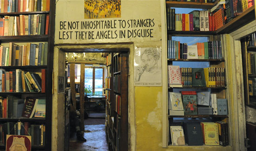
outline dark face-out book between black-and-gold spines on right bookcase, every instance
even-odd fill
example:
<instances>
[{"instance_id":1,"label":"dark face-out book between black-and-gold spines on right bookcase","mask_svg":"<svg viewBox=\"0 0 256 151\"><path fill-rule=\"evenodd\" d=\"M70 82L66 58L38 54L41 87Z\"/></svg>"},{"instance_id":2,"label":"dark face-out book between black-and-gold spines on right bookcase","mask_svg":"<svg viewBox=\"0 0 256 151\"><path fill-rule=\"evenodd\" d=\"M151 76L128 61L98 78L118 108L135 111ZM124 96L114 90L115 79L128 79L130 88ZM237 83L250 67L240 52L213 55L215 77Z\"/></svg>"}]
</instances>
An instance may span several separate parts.
<instances>
[{"instance_id":1,"label":"dark face-out book between black-and-gold spines on right bookcase","mask_svg":"<svg viewBox=\"0 0 256 151\"><path fill-rule=\"evenodd\" d=\"M206 87L203 68L192 68L192 87Z\"/></svg>"}]
</instances>

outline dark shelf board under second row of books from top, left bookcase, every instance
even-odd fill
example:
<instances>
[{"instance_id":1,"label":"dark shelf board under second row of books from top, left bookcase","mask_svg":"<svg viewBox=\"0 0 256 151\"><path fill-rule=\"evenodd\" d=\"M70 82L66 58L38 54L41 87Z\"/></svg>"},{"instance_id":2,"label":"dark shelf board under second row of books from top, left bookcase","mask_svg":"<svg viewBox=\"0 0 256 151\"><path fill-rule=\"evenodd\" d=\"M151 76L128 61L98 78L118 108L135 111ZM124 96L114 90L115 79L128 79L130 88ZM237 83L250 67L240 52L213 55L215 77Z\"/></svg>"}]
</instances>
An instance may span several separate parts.
<instances>
[{"instance_id":1,"label":"dark shelf board under second row of books from top, left bookcase","mask_svg":"<svg viewBox=\"0 0 256 151\"><path fill-rule=\"evenodd\" d=\"M48 35L0 36L3 42L47 42Z\"/></svg>"}]
</instances>

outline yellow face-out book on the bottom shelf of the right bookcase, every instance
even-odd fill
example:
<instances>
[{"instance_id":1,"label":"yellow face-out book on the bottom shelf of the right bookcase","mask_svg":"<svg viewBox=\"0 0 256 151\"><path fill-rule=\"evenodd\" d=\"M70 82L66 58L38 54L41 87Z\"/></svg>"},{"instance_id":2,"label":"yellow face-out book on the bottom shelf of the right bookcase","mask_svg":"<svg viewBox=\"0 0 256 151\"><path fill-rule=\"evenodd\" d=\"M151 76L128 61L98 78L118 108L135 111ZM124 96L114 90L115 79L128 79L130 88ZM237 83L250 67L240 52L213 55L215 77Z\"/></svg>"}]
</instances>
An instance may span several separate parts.
<instances>
[{"instance_id":1,"label":"yellow face-out book on the bottom shelf of the right bookcase","mask_svg":"<svg viewBox=\"0 0 256 151\"><path fill-rule=\"evenodd\" d=\"M202 122L202 132L205 145L220 145L218 126L214 122Z\"/></svg>"}]
</instances>

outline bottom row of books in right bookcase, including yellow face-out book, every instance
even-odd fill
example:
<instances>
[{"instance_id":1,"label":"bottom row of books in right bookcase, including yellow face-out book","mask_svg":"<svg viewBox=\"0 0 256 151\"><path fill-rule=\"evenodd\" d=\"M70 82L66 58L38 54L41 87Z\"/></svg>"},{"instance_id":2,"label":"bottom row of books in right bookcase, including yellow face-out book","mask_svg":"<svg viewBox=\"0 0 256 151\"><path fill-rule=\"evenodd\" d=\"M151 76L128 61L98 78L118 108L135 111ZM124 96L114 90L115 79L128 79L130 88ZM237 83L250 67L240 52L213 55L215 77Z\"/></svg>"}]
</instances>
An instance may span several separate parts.
<instances>
[{"instance_id":1,"label":"bottom row of books in right bookcase, including yellow face-out book","mask_svg":"<svg viewBox=\"0 0 256 151\"><path fill-rule=\"evenodd\" d=\"M179 123L180 124L180 123ZM188 122L170 125L170 143L172 145L229 145L228 123Z\"/></svg>"}]
</instances>

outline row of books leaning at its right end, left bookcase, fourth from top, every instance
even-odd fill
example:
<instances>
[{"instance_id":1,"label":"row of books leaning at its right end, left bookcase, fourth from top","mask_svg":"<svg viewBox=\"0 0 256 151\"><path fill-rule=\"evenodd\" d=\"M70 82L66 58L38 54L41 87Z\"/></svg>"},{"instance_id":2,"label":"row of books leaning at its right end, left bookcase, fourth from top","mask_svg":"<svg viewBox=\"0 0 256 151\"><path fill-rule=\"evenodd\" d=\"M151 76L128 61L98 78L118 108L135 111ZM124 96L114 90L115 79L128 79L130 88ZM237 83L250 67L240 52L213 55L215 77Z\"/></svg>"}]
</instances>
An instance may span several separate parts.
<instances>
[{"instance_id":1,"label":"row of books leaning at its right end, left bookcase, fourth from top","mask_svg":"<svg viewBox=\"0 0 256 151\"><path fill-rule=\"evenodd\" d=\"M0 92L42 92L45 93L46 69L37 73L21 69L6 71L0 69Z\"/></svg>"}]
</instances>

